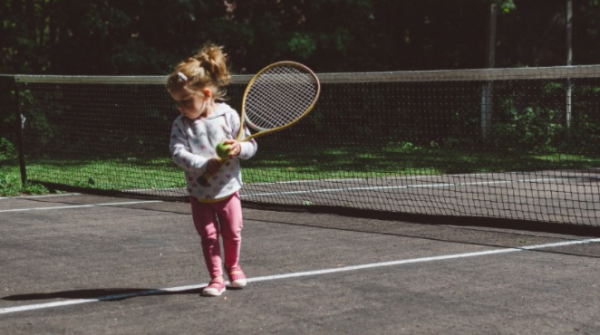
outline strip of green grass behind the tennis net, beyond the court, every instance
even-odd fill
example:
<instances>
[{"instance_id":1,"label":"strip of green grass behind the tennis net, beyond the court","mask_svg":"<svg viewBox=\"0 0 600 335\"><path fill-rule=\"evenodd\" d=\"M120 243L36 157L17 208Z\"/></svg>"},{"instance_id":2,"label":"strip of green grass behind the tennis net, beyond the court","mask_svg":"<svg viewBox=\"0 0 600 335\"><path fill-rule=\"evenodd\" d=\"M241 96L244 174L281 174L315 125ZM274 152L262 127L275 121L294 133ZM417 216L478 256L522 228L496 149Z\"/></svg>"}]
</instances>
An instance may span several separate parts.
<instances>
[{"instance_id":1,"label":"strip of green grass behind the tennis net, beyond the court","mask_svg":"<svg viewBox=\"0 0 600 335\"><path fill-rule=\"evenodd\" d=\"M0 196L44 194L39 184L21 184L16 159L0 160ZM376 178L476 172L537 171L600 166L598 155L470 152L389 143L380 148L348 144L335 148L268 147L243 163L248 183L304 179ZM27 166L30 180L97 189L184 187L182 171L169 157L101 160L38 160Z\"/></svg>"}]
</instances>

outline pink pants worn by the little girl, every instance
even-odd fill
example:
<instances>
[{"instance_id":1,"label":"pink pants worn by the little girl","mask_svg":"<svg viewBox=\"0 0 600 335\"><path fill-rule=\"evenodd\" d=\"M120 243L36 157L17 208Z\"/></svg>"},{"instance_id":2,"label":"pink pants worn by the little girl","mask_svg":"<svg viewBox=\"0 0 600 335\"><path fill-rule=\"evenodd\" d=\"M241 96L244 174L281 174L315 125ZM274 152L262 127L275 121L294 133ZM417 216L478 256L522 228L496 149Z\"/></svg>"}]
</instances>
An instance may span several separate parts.
<instances>
[{"instance_id":1,"label":"pink pants worn by the little girl","mask_svg":"<svg viewBox=\"0 0 600 335\"><path fill-rule=\"evenodd\" d=\"M204 261L211 278L223 275L221 246L223 239L225 267L237 265L242 246L242 204L239 193L215 203L202 203L190 197L194 226L200 235Z\"/></svg>"}]
</instances>

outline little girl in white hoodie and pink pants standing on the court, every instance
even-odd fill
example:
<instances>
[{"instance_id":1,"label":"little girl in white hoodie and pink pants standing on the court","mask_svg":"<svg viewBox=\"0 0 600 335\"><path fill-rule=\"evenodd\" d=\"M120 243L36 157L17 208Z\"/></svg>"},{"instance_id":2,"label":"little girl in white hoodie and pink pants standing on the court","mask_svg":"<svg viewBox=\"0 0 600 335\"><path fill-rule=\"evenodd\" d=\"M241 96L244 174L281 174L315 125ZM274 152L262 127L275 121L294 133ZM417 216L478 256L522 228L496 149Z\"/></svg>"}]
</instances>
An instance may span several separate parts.
<instances>
[{"instance_id":1,"label":"little girl in white hoodie and pink pants standing on the court","mask_svg":"<svg viewBox=\"0 0 600 335\"><path fill-rule=\"evenodd\" d=\"M243 225L240 159L251 158L257 150L254 141L235 140L240 118L222 102L224 87L229 83L226 56L222 47L207 45L179 63L167 80L167 90L181 112L173 123L170 149L187 181L192 217L211 277L210 284L202 290L207 296L219 296L225 291L219 235L231 286L246 285L238 264ZM247 133L247 129L244 131ZM220 142L229 145L229 159L223 163L215 150ZM212 176L208 181L202 178L205 172Z\"/></svg>"}]
</instances>

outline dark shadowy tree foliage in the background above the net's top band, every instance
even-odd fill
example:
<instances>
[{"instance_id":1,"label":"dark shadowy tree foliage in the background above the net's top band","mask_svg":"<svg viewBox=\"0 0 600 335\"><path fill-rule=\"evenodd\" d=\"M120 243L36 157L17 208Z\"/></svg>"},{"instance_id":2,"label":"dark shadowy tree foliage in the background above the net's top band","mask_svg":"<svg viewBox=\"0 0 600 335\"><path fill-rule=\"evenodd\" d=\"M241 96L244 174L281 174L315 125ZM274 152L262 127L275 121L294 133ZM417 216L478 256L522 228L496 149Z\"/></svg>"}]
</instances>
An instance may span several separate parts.
<instances>
[{"instance_id":1,"label":"dark shadowy tree foliage in the background above the net's top band","mask_svg":"<svg viewBox=\"0 0 600 335\"><path fill-rule=\"evenodd\" d=\"M237 73L291 59L317 71L478 68L489 3L497 66L565 63L564 0L12 0L0 73L164 74L212 41ZM596 63L600 5L575 2L575 61Z\"/></svg>"}]
</instances>

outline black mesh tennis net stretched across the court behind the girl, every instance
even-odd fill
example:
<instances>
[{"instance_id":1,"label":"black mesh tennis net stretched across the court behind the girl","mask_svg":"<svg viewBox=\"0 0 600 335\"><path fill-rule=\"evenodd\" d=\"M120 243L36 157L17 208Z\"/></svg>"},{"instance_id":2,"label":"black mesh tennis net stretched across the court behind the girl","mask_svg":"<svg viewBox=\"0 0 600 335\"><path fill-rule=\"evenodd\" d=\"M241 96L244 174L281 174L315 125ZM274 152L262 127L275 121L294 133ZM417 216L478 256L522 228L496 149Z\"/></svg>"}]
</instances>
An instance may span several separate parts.
<instances>
[{"instance_id":1,"label":"black mesh tennis net stretched across the court behind the girl","mask_svg":"<svg viewBox=\"0 0 600 335\"><path fill-rule=\"evenodd\" d=\"M598 225L600 65L318 76L315 110L243 162L247 203ZM185 200L164 81L15 76L28 180Z\"/></svg>"}]
</instances>

